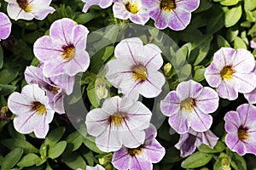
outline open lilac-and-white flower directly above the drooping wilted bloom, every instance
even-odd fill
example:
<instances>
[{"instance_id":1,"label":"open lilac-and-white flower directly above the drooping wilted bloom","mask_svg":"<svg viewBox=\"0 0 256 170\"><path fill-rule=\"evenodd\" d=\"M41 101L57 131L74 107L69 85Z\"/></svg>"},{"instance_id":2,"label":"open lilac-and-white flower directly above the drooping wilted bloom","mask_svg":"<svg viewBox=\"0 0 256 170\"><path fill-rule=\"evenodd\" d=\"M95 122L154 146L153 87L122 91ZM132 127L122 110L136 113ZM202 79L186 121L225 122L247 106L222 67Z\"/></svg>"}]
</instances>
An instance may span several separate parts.
<instances>
[{"instance_id":1,"label":"open lilac-and-white flower directly above the drooping wilted bloom","mask_svg":"<svg viewBox=\"0 0 256 170\"><path fill-rule=\"evenodd\" d=\"M169 124L177 133L205 132L212 126L209 113L218 109L218 94L208 87L202 87L193 80L180 82L176 91L166 95L160 102L160 110L170 116Z\"/></svg>"}]
</instances>

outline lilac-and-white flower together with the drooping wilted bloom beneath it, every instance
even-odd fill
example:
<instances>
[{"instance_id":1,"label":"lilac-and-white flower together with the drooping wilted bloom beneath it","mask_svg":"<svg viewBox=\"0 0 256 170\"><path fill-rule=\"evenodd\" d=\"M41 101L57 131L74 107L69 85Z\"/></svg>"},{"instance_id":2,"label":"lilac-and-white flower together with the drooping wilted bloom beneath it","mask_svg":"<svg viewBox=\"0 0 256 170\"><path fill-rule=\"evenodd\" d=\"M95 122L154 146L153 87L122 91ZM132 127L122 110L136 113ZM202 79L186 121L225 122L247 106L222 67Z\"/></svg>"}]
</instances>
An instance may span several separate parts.
<instances>
[{"instance_id":1,"label":"lilac-and-white flower together with the drooping wilted bloom beneath it","mask_svg":"<svg viewBox=\"0 0 256 170\"><path fill-rule=\"evenodd\" d=\"M192 80L180 82L176 91L161 101L160 109L164 115L170 116L171 127L181 134L176 144L181 156L192 154L195 146L202 143L210 147L217 143L217 137L209 130L212 126L209 114L218 109L218 94L212 88L202 87Z\"/></svg>"}]
</instances>

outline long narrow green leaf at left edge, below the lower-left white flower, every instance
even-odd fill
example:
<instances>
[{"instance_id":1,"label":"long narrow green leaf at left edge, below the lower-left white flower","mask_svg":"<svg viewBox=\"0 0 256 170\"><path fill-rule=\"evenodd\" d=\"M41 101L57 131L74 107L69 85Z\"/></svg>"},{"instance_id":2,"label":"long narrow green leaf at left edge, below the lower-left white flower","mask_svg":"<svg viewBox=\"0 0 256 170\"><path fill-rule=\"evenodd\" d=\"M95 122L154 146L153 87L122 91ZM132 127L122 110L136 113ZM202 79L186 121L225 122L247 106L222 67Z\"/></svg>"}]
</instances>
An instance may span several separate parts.
<instances>
[{"instance_id":1,"label":"long narrow green leaf at left edge, below the lower-left white flower","mask_svg":"<svg viewBox=\"0 0 256 170\"><path fill-rule=\"evenodd\" d=\"M23 139L3 139L1 144L9 148L9 150L14 150L15 148L23 148L25 153L38 153L38 149Z\"/></svg>"}]
</instances>

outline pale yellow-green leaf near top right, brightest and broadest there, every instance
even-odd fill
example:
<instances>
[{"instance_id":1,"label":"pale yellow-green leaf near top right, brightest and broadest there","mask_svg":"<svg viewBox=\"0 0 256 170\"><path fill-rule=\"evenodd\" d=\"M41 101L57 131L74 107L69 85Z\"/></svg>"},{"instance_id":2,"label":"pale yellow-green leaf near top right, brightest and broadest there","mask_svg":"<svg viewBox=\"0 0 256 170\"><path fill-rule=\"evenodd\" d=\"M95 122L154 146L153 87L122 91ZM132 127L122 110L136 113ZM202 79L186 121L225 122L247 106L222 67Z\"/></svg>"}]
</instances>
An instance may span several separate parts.
<instances>
[{"instance_id":1,"label":"pale yellow-green leaf near top right, brightest and broadest there","mask_svg":"<svg viewBox=\"0 0 256 170\"><path fill-rule=\"evenodd\" d=\"M225 26L235 26L241 18L242 10L241 5L233 8L224 8L225 12Z\"/></svg>"}]
</instances>

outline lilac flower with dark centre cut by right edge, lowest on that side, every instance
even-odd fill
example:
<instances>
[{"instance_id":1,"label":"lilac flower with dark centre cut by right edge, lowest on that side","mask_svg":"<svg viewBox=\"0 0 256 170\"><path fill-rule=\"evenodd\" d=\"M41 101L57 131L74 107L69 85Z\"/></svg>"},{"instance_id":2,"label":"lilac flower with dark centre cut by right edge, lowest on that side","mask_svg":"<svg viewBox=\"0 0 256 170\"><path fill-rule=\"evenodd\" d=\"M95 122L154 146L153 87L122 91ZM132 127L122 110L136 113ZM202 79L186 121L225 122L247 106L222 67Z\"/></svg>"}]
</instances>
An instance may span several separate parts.
<instances>
[{"instance_id":1,"label":"lilac flower with dark centre cut by right edge, lowest on that side","mask_svg":"<svg viewBox=\"0 0 256 170\"><path fill-rule=\"evenodd\" d=\"M256 107L243 104L236 111L229 111L224 116L227 135L225 143L240 156L246 153L256 154Z\"/></svg>"}]
</instances>

